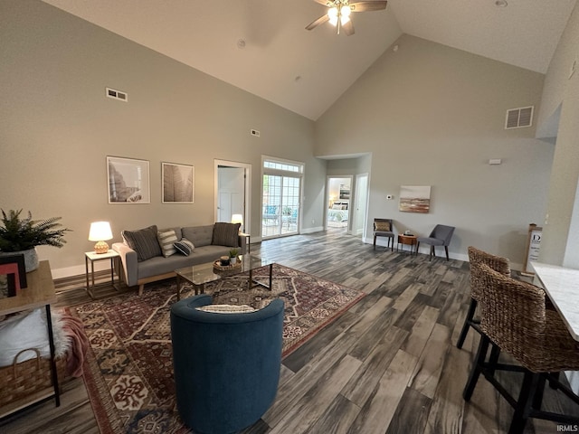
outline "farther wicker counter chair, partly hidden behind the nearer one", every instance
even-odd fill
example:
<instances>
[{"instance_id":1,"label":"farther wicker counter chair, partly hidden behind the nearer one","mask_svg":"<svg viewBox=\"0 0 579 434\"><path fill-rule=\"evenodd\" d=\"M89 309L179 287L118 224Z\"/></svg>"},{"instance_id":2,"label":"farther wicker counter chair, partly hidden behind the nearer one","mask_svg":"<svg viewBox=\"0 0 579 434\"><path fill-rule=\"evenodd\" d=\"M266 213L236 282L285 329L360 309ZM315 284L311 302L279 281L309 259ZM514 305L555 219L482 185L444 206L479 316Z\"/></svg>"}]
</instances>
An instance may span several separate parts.
<instances>
[{"instance_id":1,"label":"farther wicker counter chair, partly hidden behind the nearer one","mask_svg":"<svg viewBox=\"0 0 579 434\"><path fill-rule=\"evenodd\" d=\"M500 274L510 276L510 261L507 258L495 256L486 251L479 250L475 247L469 247L469 263L470 263L470 306L467 316L464 318L464 325L460 331L459 340L456 344L457 348L462 348L464 340L469 333L470 327L480 333L479 320L475 319L474 314L477 310L477 304L480 297L479 282L477 282L476 269L473 269L476 264L487 264L491 269L494 269Z\"/></svg>"}]
</instances>

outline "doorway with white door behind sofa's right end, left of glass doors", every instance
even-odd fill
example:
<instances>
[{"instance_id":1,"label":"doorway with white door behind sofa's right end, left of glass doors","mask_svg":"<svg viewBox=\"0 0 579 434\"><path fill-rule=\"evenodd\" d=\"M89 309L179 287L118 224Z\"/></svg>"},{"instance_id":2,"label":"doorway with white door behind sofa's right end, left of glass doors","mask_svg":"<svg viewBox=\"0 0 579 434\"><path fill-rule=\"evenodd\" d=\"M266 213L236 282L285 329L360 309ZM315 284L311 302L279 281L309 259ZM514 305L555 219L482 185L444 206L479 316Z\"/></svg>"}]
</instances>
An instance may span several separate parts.
<instances>
[{"instance_id":1,"label":"doorway with white door behind sofa's right end, left of glass doors","mask_svg":"<svg viewBox=\"0 0 579 434\"><path fill-rule=\"evenodd\" d=\"M214 160L215 222L231 222L233 214L242 215L242 231L251 233L250 185L252 165Z\"/></svg>"}]
</instances>

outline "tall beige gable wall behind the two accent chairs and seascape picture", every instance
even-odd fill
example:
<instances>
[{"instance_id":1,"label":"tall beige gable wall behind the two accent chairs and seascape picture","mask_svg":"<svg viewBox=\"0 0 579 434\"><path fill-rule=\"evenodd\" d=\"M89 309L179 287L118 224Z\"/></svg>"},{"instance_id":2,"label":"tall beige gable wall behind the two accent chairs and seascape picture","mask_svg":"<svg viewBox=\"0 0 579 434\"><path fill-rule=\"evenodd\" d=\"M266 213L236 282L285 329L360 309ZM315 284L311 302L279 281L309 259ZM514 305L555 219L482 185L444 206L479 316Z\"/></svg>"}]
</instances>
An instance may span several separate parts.
<instances>
[{"instance_id":1,"label":"tall beige gable wall behind the two accent chairs and seascape picture","mask_svg":"<svg viewBox=\"0 0 579 434\"><path fill-rule=\"evenodd\" d=\"M544 76L410 35L395 44L318 119L316 155L372 153L368 222L419 234L449 224L452 257L475 245L520 264L528 223L543 220L553 146L534 127L506 131L505 113L538 109ZM400 185L432 185L431 212L399 212Z\"/></svg>"}]
</instances>

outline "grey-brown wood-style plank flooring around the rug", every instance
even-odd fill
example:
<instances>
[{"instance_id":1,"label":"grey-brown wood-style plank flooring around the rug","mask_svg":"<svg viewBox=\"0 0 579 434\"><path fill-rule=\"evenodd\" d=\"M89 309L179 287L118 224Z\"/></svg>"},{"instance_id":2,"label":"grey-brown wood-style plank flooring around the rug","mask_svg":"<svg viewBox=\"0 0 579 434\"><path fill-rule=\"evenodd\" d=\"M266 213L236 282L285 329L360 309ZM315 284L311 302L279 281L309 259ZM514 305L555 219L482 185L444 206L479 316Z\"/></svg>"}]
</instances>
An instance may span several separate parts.
<instances>
[{"instance_id":1,"label":"grey-brown wood-style plank flooring around the rug","mask_svg":"<svg viewBox=\"0 0 579 434\"><path fill-rule=\"evenodd\" d=\"M507 432L512 410L484 379L470 403L462 400L479 340L471 331L463 349L455 346L470 300L468 263L373 250L343 230L263 241L252 253L367 295L284 359L276 401L245 433ZM58 305L90 301L83 281L57 281ZM503 378L516 392L520 376L509 375ZM546 389L545 408L577 411ZM0 432L99 429L82 379L72 379L63 384L60 408L39 404L0 422ZM557 424L544 420L526 429L551 432Z\"/></svg>"}]
</instances>

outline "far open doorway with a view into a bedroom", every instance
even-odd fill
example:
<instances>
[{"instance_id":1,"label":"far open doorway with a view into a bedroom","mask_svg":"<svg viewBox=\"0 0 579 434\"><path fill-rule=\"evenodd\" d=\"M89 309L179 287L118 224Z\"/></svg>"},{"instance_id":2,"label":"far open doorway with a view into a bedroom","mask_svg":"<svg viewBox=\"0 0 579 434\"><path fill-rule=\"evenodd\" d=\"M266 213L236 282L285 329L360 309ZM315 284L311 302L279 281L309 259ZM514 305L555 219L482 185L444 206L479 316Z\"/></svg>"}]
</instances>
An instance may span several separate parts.
<instances>
[{"instance_id":1,"label":"far open doorway with a view into a bedroom","mask_svg":"<svg viewBox=\"0 0 579 434\"><path fill-rule=\"evenodd\" d=\"M347 232L351 215L352 176L327 176L326 228Z\"/></svg>"}]
</instances>

